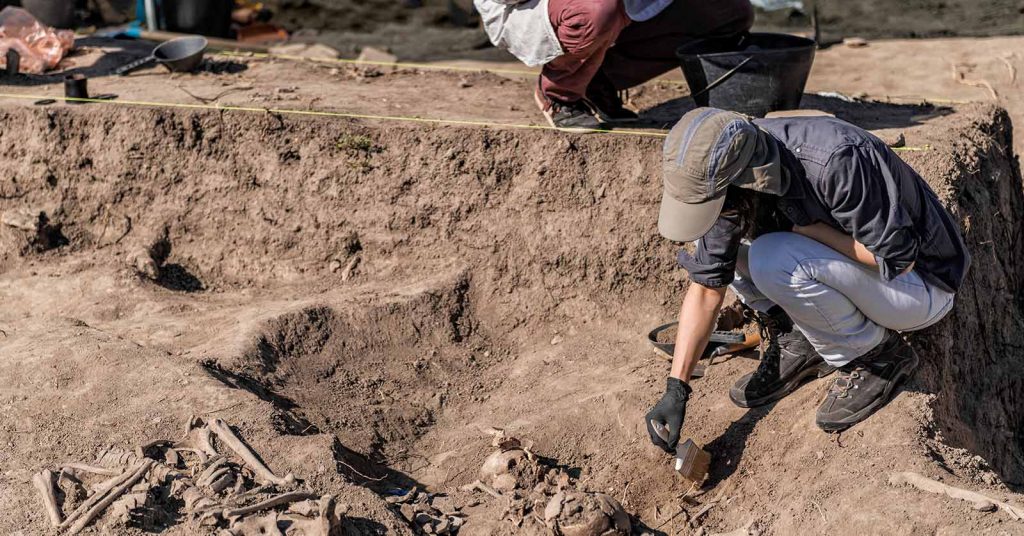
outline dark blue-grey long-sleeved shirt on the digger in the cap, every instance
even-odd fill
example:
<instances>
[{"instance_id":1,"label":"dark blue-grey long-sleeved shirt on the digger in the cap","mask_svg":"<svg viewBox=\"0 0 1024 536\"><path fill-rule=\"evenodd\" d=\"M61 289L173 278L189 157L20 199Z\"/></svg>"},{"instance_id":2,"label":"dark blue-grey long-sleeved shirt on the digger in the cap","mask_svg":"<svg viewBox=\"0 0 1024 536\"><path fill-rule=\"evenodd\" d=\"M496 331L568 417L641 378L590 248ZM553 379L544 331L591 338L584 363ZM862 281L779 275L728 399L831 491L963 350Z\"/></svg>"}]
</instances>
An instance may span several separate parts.
<instances>
[{"instance_id":1,"label":"dark blue-grey long-sleeved shirt on the digger in the cap","mask_svg":"<svg viewBox=\"0 0 1024 536\"><path fill-rule=\"evenodd\" d=\"M760 119L779 142L790 188L762 232L825 222L874 254L882 278L892 281L911 263L929 282L950 292L964 283L971 255L959 224L921 175L867 131L830 117ZM784 216L784 217L778 217ZM732 283L741 239L739 221L720 216L691 255L679 254L690 280L706 287Z\"/></svg>"}]
</instances>

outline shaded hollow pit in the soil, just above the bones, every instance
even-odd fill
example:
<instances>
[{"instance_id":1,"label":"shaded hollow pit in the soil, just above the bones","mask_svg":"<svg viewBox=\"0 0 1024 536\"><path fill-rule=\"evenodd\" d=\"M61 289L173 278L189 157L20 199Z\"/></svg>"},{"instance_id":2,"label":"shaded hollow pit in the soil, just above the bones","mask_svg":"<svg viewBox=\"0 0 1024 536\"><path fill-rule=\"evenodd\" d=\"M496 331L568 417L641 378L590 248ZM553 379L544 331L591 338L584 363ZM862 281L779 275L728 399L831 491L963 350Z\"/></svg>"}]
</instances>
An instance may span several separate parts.
<instances>
[{"instance_id":1,"label":"shaded hollow pit in the soil, just above the bones","mask_svg":"<svg viewBox=\"0 0 1024 536\"><path fill-rule=\"evenodd\" d=\"M468 290L457 272L377 303L300 307L258 323L240 355L204 366L271 403L282 434L330 432L346 452L386 464L445 404L482 388L473 377L494 348L476 329Z\"/></svg>"}]
</instances>

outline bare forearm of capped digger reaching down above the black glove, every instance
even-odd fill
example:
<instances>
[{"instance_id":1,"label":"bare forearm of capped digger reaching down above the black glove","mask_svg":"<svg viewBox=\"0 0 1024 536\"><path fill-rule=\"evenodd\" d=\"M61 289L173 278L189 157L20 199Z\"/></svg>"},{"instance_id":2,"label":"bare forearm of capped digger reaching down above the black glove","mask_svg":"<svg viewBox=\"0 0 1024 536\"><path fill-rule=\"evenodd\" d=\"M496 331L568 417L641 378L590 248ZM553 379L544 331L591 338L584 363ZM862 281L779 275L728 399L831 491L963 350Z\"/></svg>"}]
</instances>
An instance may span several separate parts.
<instances>
[{"instance_id":1,"label":"bare forearm of capped digger reaching down above the black glove","mask_svg":"<svg viewBox=\"0 0 1024 536\"><path fill-rule=\"evenodd\" d=\"M689 382L693 369L700 360L718 312L725 299L725 289L690 285L679 311L679 331L676 334L676 354L672 360L672 377Z\"/></svg>"}]
</instances>

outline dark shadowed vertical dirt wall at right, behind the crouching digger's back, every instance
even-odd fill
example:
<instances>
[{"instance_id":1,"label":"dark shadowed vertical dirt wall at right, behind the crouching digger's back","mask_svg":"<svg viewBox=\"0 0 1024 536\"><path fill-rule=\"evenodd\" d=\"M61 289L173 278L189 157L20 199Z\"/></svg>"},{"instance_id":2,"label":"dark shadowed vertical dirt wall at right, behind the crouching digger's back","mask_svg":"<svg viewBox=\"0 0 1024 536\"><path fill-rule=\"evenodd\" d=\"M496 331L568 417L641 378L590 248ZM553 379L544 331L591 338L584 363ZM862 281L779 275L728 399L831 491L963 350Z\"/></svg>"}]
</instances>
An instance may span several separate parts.
<instances>
[{"instance_id":1,"label":"dark shadowed vertical dirt wall at right, behind the crouching digger's back","mask_svg":"<svg viewBox=\"0 0 1024 536\"><path fill-rule=\"evenodd\" d=\"M993 121L962 131L939 162L945 170L929 177L964 222L973 263L953 313L913 341L946 439L1024 485L1024 378L1014 372L1024 365L1024 200L1010 118L989 113Z\"/></svg>"}]
</instances>

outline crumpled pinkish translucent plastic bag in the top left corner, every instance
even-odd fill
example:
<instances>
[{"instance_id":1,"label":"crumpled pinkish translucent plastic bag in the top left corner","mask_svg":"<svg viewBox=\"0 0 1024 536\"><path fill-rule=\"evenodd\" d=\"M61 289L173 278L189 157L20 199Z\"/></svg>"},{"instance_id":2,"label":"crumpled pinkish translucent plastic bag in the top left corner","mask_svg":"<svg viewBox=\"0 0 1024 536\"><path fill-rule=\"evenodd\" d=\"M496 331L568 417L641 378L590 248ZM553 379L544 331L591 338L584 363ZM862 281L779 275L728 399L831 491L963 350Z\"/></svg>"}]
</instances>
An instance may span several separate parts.
<instances>
[{"instance_id":1,"label":"crumpled pinkish translucent plastic bag in the top left corner","mask_svg":"<svg viewBox=\"0 0 1024 536\"><path fill-rule=\"evenodd\" d=\"M0 11L0 66L7 67L7 50L22 56L19 71L42 74L57 67L75 47L75 33L44 26L20 7Z\"/></svg>"}]
</instances>

